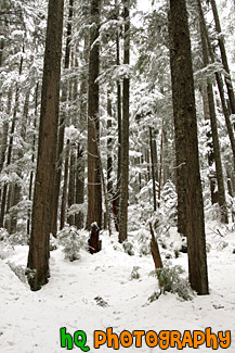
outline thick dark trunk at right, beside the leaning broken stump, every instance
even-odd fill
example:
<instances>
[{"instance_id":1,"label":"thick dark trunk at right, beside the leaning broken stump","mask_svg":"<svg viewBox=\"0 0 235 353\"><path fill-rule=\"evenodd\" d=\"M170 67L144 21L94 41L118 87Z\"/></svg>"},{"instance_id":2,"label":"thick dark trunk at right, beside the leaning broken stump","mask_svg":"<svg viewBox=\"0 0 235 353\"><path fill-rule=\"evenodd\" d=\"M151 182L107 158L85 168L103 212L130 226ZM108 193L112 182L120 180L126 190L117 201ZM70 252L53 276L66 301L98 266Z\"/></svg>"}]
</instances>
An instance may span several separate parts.
<instances>
[{"instance_id":1,"label":"thick dark trunk at right, beside the leaning broken stump","mask_svg":"<svg viewBox=\"0 0 235 353\"><path fill-rule=\"evenodd\" d=\"M204 202L197 146L197 121L191 40L185 0L170 0L170 65L177 165L184 169L182 189L186 202L186 236L190 282L198 294L208 294ZM179 146L185 139L185 150ZM183 164L182 164L183 163Z\"/></svg>"}]
</instances>

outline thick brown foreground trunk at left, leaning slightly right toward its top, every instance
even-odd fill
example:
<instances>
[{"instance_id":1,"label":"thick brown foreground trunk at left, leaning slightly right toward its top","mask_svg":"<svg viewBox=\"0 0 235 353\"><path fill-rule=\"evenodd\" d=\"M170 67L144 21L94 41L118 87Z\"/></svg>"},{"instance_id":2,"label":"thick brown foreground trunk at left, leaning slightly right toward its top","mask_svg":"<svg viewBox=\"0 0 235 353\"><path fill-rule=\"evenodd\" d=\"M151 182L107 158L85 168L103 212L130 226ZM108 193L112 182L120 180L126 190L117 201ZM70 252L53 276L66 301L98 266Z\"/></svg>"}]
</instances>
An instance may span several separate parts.
<instances>
[{"instance_id":1,"label":"thick brown foreground trunk at left, leaning slightly right toward its top","mask_svg":"<svg viewBox=\"0 0 235 353\"><path fill-rule=\"evenodd\" d=\"M63 11L63 0L49 0L38 161L28 253L28 282L31 290L39 290L48 282L49 278L49 241L57 146Z\"/></svg>"}]
</instances>

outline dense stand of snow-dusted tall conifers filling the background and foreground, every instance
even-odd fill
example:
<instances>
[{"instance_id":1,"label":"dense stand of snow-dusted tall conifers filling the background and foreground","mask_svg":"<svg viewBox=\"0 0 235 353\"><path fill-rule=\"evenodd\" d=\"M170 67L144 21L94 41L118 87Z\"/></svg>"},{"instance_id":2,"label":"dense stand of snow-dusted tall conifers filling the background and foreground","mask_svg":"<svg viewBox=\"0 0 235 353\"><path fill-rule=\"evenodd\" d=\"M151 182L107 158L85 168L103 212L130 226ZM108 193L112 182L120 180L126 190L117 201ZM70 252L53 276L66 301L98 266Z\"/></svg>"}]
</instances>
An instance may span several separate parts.
<instances>
[{"instance_id":1,"label":"dense stand of snow-dusted tall conifers filling the background and foreground","mask_svg":"<svg viewBox=\"0 0 235 353\"><path fill-rule=\"evenodd\" d=\"M190 281L208 293L204 201L227 223L235 187L235 100L216 1L158 1L146 14L131 0L45 9L11 0L0 10L0 226L30 234L31 289L48 281L50 234L96 223L123 242L128 205L147 188L156 212L171 180Z\"/></svg>"}]
</instances>

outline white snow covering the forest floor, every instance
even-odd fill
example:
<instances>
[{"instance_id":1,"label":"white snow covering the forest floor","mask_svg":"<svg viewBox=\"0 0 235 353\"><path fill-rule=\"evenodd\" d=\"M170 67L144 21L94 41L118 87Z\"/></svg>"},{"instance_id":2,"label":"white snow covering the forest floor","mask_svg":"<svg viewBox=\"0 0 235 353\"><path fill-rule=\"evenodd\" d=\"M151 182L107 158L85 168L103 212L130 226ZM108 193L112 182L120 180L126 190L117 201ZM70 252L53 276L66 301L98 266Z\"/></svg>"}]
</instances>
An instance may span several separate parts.
<instances>
[{"instance_id":1,"label":"white snow covering the forest floor","mask_svg":"<svg viewBox=\"0 0 235 353\"><path fill-rule=\"evenodd\" d=\"M26 265L27 247L16 247L4 260L0 269L0 352L2 353L57 353L61 348L60 328L66 327L74 333L87 333L90 352L114 352L103 344L93 348L93 331L114 332L122 330L201 330L211 327L213 332L231 330L232 343L226 352L235 352L235 234L217 231L213 223L207 226L210 295L196 297L193 301L180 301L168 293L153 302L148 298L158 289L157 279L148 274L154 269L151 255L129 256L114 250L117 237L103 235L102 252L90 255L82 251L79 261L64 260L62 250L51 253L51 278L38 292L31 292L11 270L8 261ZM172 232L172 237L175 235ZM223 248L223 245L227 245ZM172 260L187 268L186 254ZM133 266L139 266L140 278L130 279ZM96 298L96 299L95 299ZM102 298L104 306L99 305ZM100 300L100 303L102 302ZM82 352L75 346L76 352ZM159 346L148 348L143 340L142 348L120 348L120 352L160 352ZM177 348L169 348L177 352ZM184 352L193 352L185 348ZM212 352L200 345L199 352ZM218 349L222 351L221 348ZM224 350L223 350L224 351Z\"/></svg>"}]
</instances>

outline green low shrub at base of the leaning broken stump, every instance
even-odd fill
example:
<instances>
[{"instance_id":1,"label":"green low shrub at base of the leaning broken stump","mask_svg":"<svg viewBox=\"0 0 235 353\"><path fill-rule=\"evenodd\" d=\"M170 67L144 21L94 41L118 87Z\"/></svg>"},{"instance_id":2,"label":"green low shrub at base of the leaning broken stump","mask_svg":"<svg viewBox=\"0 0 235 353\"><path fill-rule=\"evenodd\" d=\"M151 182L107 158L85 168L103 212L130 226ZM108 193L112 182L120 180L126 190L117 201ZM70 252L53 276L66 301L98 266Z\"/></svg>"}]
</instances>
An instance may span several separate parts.
<instances>
[{"instance_id":1,"label":"green low shrub at base of the leaning broken stump","mask_svg":"<svg viewBox=\"0 0 235 353\"><path fill-rule=\"evenodd\" d=\"M194 291L188 281L181 277L183 273L181 266L172 267L170 263L165 263L162 268L152 272L151 275L157 276L161 294L166 292L175 293L179 298L187 301L193 299Z\"/></svg>"}]
</instances>

